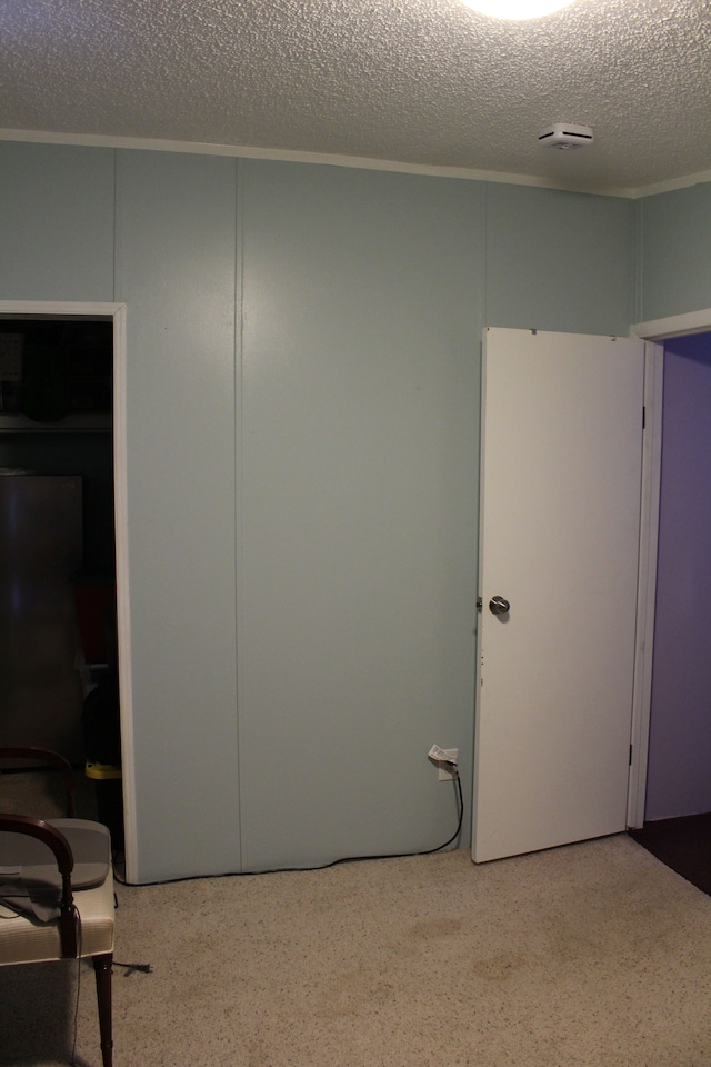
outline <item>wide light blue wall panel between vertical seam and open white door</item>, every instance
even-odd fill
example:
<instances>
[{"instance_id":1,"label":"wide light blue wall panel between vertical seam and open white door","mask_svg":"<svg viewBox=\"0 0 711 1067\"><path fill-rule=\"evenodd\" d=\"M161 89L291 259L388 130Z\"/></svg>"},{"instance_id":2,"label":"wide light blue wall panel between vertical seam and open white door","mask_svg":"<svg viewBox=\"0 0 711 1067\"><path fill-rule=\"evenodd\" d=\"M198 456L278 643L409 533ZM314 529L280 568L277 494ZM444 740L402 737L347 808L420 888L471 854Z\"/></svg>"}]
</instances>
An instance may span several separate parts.
<instances>
[{"instance_id":1,"label":"wide light blue wall panel between vertical seam and open white door","mask_svg":"<svg viewBox=\"0 0 711 1067\"><path fill-rule=\"evenodd\" d=\"M482 189L240 177L244 862L431 847L431 745L471 781Z\"/></svg>"}]
</instances>

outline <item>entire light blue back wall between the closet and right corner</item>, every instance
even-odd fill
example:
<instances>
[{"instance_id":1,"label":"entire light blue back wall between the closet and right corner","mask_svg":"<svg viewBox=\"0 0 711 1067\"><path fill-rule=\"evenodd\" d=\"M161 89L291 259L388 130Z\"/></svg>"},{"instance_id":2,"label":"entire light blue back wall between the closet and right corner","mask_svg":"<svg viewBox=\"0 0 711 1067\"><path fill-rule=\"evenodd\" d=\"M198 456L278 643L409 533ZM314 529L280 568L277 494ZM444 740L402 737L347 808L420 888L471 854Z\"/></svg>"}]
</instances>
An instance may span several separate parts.
<instances>
[{"instance_id":1,"label":"entire light blue back wall between the closet and right corner","mask_svg":"<svg viewBox=\"0 0 711 1067\"><path fill-rule=\"evenodd\" d=\"M468 819L481 329L627 332L633 216L0 143L0 299L128 306L141 880L438 845L433 742Z\"/></svg>"}]
</instances>

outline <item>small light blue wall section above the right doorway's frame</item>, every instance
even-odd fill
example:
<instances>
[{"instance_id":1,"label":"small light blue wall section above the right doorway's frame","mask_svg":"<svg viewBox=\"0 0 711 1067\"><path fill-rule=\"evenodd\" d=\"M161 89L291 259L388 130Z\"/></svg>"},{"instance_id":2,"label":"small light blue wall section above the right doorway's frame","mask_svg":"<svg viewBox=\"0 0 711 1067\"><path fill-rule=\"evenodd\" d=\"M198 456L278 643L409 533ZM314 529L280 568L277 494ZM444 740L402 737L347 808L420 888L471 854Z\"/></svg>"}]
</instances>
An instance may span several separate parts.
<instances>
[{"instance_id":1,"label":"small light blue wall section above the right doorway's frame","mask_svg":"<svg viewBox=\"0 0 711 1067\"><path fill-rule=\"evenodd\" d=\"M638 228L635 321L711 307L711 182L641 200Z\"/></svg>"}]
</instances>

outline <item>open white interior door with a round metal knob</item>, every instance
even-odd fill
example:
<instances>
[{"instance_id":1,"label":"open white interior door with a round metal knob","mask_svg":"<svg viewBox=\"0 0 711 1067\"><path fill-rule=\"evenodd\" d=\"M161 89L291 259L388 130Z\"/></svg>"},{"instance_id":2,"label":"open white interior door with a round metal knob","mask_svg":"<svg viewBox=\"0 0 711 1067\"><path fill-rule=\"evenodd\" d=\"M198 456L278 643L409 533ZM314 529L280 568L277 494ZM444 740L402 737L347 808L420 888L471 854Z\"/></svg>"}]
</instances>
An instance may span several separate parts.
<instances>
[{"instance_id":1,"label":"open white interior door with a round metal knob","mask_svg":"<svg viewBox=\"0 0 711 1067\"><path fill-rule=\"evenodd\" d=\"M644 346L489 329L483 366L477 862L625 828Z\"/></svg>"}]
</instances>

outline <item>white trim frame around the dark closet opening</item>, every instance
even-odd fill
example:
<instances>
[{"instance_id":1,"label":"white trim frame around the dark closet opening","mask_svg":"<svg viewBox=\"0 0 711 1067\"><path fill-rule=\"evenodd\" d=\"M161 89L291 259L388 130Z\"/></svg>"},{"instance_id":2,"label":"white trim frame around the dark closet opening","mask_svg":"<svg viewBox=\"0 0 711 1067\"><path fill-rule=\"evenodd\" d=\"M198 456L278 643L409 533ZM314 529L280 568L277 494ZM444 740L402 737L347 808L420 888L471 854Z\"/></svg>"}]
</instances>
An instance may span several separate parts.
<instances>
[{"instance_id":1,"label":"white trim frame around the dark closet opening","mask_svg":"<svg viewBox=\"0 0 711 1067\"><path fill-rule=\"evenodd\" d=\"M126 874L137 870L136 774L129 611L129 547L127 503L126 305L73 303L58 300L0 300L0 318L111 318L113 320L113 480L116 523L117 629L121 694L121 749L126 828Z\"/></svg>"}]
</instances>

